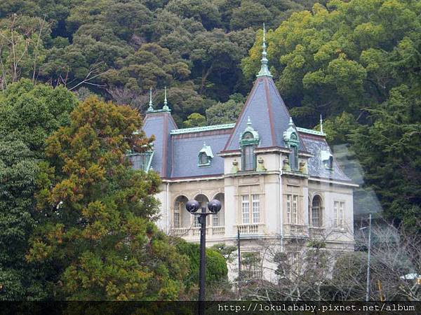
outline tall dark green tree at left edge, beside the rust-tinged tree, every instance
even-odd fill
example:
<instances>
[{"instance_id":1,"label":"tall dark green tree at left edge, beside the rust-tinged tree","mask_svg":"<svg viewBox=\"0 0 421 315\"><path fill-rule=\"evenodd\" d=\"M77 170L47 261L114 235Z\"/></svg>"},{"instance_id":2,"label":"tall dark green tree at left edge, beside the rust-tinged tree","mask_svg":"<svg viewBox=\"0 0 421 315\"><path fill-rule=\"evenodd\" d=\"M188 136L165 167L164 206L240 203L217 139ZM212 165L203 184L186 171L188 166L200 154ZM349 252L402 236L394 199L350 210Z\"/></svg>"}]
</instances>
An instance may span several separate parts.
<instances>
[{"instance_id":1,"label":"tall dark green tree at left edge, beside the rust-tinged tree","mask_svg":"<svg viewBox=\"0 0 421 315\"><path fill-rule=\"evenodd\" d=\"M34 193L46 137L69 123L76 99L63 87L20 80L0 94L1 300L48 297L44 266L25 260L36 225Z\"/></svg>"}]
</instances>

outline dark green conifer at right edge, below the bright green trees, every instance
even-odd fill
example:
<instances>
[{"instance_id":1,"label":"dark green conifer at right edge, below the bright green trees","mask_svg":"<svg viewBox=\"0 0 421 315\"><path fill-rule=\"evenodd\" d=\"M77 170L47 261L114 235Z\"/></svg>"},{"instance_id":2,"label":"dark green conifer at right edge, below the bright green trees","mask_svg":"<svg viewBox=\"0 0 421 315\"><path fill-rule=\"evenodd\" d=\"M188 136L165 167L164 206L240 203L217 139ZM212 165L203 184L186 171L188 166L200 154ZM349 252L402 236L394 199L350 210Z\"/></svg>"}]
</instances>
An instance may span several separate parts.
<instances>
[{"instance_id":1,"label":"dark green conifer at right edge, below the bright green trees","mask_svg":"<svg viewBox=\"0 0 421 315\"><path fill-rule=\"evenodd\" d=\"M367 170L366 185L375 189L389 218L415 226L421 214L421 102L406 85L368 109L373 125L352 132L354 151Z\"/></svg>"}]
</instances>

